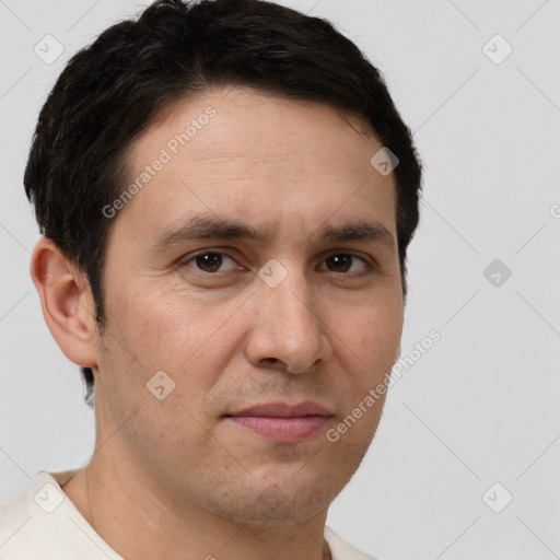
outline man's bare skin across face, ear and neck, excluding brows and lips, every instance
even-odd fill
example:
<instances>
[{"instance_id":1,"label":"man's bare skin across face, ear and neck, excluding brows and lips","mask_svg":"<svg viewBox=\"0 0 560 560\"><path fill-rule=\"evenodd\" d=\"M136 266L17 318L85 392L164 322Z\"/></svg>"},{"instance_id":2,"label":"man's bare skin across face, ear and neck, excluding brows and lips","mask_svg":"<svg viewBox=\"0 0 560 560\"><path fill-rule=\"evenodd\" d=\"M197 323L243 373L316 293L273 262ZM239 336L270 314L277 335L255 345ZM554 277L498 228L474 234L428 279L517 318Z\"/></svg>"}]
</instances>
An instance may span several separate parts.
<instances>
[{"instance_id":1,"label":"man's bare skin across face, ear and neck, excluding brows and lips","mask_svg":"<svg viewBox=\"0 0 560 560\"><path fill-rule=\"evenodd\" d=\"M131 177L209 106L209 124L113 218L102 332L83 273L50 241L35 246L47 325L95 376L95 451L63 491L125 558L320 560L327 509L368 451L384 399L338 442L325 432L398 358L395 178L370 164L382 144L364 122L240 88L168 107L133 143ZM150 248L197 214L275 225L266 243ZM358 218L384 225L395 245L314 236ZM226 255L219 272L190 258L200 249ZM365 260L328 258L348 253ZM288 272L276 288L258 276L271 258ZM158 371L175 383L163 400L147 389ZM299 443L223 418L307 399L332 418Z\"/></svg>"}]
</instances>

